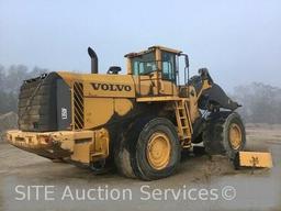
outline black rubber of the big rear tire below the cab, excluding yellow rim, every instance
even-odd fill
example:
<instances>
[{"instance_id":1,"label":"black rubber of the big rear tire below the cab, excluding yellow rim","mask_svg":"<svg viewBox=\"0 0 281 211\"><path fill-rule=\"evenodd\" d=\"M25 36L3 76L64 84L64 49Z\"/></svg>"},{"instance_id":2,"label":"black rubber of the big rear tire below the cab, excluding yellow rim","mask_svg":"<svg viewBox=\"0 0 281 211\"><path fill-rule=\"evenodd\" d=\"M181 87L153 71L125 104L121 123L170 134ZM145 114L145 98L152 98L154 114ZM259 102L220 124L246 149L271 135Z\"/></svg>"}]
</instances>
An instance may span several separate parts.
<instances>
[{"instance_id":1,"label":"black rubber of the big rear tire below the cab, excluding yellow rim","mask_svg":"<svg viewBox=\"0 0 281 211\"><path fill-rule=\"evenodd\" d=\"M162 169L155 169L147 158L149 138L156 133L165 134L170 144L169 160ZM130 126L128 132L125 133L115 152L115 165L126 177L155 180L172 175L180 157L181 146L175 125L164 118L143 118Z\"/></svg>"}]
</instances>

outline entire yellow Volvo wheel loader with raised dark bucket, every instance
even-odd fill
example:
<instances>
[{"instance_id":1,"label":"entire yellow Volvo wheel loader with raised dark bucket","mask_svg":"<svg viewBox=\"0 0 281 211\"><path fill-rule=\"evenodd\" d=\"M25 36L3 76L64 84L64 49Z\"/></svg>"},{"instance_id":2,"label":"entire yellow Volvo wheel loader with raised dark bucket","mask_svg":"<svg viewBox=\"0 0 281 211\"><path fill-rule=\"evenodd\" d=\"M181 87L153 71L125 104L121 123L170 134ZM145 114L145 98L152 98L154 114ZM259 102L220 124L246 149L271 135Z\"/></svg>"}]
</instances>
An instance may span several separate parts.
<instances>
[{"instance_id":1,"label":"entire yellow Volvo wheel loader with raised dark bucket","mask_svg":"<svg viewBox=\"0 0 281 211\"><path fill-rule=\"evenodd\" d=\"M88 53L91 74L56 71L23 82L19 130L7 133L12 145L143 180L172 175L194 144L229 159L244 149L239 104L206 68L190 77L187 54L164 46L130 53L121 75L117 66L99 74L95 52Z\"/></svg>"}]
</instances>

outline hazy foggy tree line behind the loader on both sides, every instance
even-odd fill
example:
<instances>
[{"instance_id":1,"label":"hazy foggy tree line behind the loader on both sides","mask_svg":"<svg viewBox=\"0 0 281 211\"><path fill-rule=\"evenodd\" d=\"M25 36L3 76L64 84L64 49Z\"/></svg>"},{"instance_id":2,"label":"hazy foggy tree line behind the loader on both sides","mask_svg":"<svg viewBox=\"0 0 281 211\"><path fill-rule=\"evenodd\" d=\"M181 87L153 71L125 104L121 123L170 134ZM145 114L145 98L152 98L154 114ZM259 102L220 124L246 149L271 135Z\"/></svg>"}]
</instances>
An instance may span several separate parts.
<instances>
[{"instance_id":1,"label":"hazy foggy tree line behind the loader on both sides","mask_svg":"<svg viewBox=\"0 0 281 211\"><path fill-rule=\"evenodd\" d=\"M41 67L30 69L24 65L5 68L0 65L0 114L16 112L22 81L44 73L48 73L48 69ZM246 122L281 123L281 88L252 82L236 87L229 96L243 104L237 111Z\"/></svg>"}]
</instances>

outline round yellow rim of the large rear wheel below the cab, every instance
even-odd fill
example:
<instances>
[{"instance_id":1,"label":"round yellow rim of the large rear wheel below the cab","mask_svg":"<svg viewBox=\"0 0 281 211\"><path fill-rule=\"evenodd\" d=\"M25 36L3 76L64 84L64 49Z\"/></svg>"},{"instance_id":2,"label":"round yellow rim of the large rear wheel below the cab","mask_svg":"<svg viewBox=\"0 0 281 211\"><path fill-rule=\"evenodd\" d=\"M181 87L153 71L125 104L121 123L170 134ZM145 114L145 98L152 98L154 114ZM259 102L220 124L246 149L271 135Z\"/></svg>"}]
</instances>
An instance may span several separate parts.
<instances>
[{"instance_id":1,"label":"round yellow rim of the large rear wheel below the cab","mask_svg":"<svg viewBox=\"0 0 281 211\"><path fill-rule=\"evenodd\" d=\"M155 133L147 144L147 160L157 170L164 169L170 162L171 145L165 133Z\"/></svg>"}]
</instances>

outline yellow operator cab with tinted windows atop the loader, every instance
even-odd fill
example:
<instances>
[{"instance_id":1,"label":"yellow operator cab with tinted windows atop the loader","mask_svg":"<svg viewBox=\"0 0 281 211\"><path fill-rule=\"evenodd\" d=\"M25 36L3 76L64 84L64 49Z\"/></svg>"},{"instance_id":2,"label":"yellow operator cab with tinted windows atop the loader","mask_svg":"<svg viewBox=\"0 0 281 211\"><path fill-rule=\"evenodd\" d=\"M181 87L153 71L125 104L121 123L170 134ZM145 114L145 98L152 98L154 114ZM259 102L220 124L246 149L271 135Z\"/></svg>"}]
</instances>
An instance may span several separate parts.
<instances>
[{"instance_id":1,"label":"yellow operator cab with tinted windows atop the loader","mask_svg":"<svg viewBox=\"0 0 281 211\"><path fill-rule=\"evenodd\" d=\"M162 46L151 46L139 53L126 54L127 74L137 78L138 93L142 97L177 96L179 57L182 55L188 62L187 55L182 54L181 51ZM147 87L149 88L148 91L145 90Z\"/></svg>"}]
</instances>

